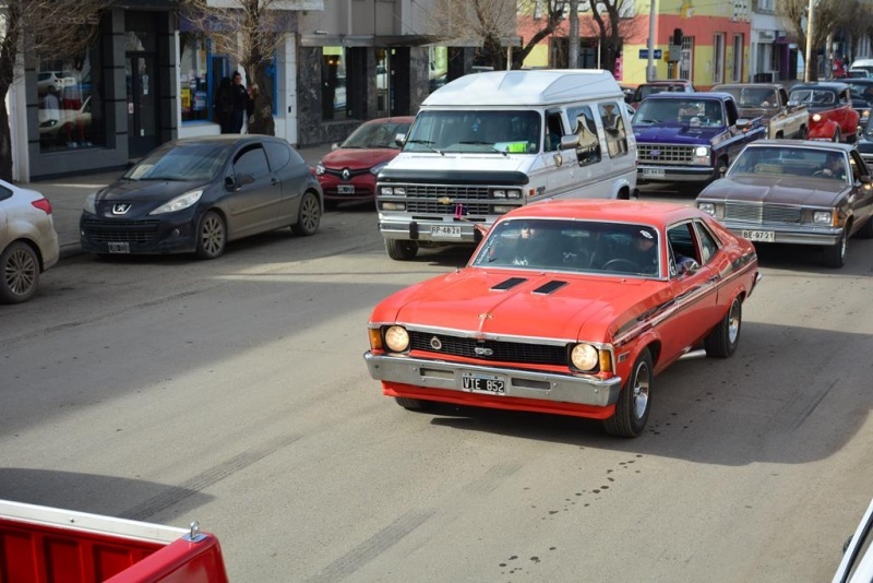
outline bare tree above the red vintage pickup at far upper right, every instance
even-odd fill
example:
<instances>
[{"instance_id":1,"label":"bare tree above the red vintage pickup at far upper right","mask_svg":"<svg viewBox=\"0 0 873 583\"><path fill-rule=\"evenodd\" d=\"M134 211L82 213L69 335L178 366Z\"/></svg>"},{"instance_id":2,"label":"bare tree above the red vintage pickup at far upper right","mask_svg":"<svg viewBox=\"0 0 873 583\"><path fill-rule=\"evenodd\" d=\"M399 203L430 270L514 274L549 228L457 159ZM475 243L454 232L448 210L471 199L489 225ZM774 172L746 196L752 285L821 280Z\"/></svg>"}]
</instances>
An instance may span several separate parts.
<instances>
[{"instance_id":1,"label":"bare tree above the red vintage pickup at far upper right","mask_svg":"<svg viewBox=\"0 0 873 583\"><path fill-rule=\"evenodd\" d=\"M813 7L812 38L806 38L809 0L778 0L776 2L777 14L794 33L798 47L803 55L806 55L806 43L812 43L810 62L806 63L812 81L818 78L818 49L823 48L827 43L827 37L837 31L845 15L852 13L851 4L850 0L818 0Z\"/></svg>"}]
</instances>

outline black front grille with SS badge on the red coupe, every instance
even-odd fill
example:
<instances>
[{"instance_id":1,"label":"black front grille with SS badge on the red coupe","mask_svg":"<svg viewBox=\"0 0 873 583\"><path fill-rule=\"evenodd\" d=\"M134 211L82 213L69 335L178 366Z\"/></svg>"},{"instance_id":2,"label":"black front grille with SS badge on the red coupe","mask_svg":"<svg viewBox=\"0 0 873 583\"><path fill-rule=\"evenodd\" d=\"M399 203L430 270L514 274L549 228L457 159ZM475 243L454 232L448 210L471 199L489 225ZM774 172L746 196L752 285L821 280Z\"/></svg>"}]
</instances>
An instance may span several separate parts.
<instances>
[{"instance_id":1,"label":"black front grille with SS badge on the red coupe","mask_svg":"<svg viewBox=\"0 0 873 583\"><path fill-rule=\"evenodd\" d=\"M431 345L438 338L441 345L439 350ZM409 332L410 345L414 350L428 353L449 354L477 360L501 360L519 365L567 365L566 346L548 346L542 344L527 344L521 342L477 341L445 334L430 334L424 332ZM477 354L476 349L479 349ZM491 354L487 350L491 350Z\"/></svg>"}]
</instances>

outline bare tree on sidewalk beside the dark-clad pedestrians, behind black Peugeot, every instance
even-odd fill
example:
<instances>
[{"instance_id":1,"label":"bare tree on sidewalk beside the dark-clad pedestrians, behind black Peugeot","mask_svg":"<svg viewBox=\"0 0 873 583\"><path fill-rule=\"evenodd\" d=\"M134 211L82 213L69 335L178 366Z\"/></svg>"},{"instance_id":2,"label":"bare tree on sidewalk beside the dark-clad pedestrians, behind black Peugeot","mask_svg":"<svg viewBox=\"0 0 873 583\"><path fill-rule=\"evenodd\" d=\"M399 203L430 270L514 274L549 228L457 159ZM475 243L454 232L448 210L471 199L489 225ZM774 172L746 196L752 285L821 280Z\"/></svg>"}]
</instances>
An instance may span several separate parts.
<instances>
[{"instance_id":1,"label":"bare tree on sidewalk beside the dark-clad pedestrians, behind black Peugeot","mask_svg":"<svg viewBox=\"0 0 873 583\"><path fill-rule=\"evenodd\" d=\"M274 135L273 57L297 29L296 12L286 0L180 0L194 29L212 39L216 52L240 63L254 99L250 133Z\"/></svg>"}]
</instances>

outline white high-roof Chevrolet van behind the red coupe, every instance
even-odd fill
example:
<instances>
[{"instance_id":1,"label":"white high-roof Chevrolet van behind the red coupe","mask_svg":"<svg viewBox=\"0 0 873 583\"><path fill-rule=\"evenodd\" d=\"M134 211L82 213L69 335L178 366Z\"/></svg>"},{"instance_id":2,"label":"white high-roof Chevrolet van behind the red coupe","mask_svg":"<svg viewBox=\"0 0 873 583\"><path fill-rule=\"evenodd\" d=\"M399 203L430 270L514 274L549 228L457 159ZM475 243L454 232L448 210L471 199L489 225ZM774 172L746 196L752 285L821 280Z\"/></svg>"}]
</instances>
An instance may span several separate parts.
<instances>
[{"instance_id":1,"label":"white high-roof Chevrolet van behind the red coupe","mask_svg":"<svg viewBox=\"0 0 873 583\"><path fill-rule=\"evenodd\" d=\"M608 71L493 71L443 85L376 179L388 257L476 243L498 216L552 197L636 195L623 104Z\"/></svg>"}]
</instances>

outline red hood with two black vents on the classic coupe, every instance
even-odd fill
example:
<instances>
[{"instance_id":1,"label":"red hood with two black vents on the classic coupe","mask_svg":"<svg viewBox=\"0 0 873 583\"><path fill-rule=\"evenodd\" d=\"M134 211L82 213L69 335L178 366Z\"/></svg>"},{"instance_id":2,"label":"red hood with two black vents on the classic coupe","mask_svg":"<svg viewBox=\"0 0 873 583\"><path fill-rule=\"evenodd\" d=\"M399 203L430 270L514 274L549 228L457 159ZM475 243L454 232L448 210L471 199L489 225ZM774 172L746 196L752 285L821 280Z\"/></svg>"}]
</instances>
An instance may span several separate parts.
<instances>
[{"instance_id":1,"label":"red hood with two black vents on the classic coupe","mask_svg":"<svg viewBox=\"0 0 873 583\"><path fill-rule=\"evenodd\" d=\"M669 284L654 279L465 269L391 296L371 321L598 342L669 298Z\"/></svg>"}]
</instances>

